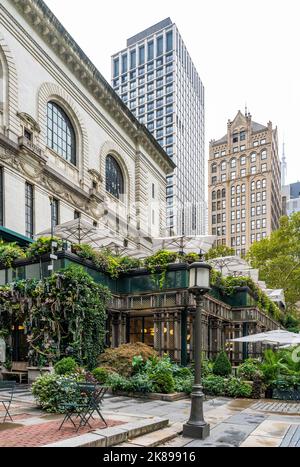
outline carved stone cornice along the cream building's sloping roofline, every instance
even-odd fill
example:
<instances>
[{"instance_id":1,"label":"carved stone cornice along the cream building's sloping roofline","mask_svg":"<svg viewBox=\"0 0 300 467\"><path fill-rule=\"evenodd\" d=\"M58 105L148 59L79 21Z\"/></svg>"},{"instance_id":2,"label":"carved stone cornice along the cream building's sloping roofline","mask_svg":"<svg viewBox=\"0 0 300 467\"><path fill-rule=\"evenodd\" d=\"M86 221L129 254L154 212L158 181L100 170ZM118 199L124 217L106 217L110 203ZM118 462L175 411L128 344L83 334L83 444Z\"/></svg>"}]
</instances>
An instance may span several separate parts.
<instances>
[{"instance_id":1,"label":"carved stone cornice along the cream building's sloping roofline","mask_svg":"<svg viewBox=\"0 0 300 467\"><path fill-rule=\"evenodd\" d=\"M142 144L167 173L175 164L144 125L141 125L74 39L42 0L10 0L72 74L135 141Z\"/></svg>"}]
</instances>

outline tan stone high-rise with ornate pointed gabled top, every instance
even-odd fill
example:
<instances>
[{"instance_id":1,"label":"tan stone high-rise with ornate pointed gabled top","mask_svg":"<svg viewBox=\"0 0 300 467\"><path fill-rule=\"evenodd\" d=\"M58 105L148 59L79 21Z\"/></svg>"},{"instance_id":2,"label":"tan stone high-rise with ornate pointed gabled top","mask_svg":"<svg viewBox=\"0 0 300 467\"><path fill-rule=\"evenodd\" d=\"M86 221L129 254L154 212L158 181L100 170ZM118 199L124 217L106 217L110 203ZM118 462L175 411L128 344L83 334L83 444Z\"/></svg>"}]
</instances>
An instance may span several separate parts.
<instances>
[{"instance_id":1,"label":"tan stone high-rise with ornate pointed gabled top","mask_svg":"<svg viewBox=\"0 0 300 467\"><path fill-rule=\"evenodd\" d=\"M227 134L210 143L209 233L244 255L279 227L281 169L277 128L240 111Z\"/></svg>"}]
</instances>

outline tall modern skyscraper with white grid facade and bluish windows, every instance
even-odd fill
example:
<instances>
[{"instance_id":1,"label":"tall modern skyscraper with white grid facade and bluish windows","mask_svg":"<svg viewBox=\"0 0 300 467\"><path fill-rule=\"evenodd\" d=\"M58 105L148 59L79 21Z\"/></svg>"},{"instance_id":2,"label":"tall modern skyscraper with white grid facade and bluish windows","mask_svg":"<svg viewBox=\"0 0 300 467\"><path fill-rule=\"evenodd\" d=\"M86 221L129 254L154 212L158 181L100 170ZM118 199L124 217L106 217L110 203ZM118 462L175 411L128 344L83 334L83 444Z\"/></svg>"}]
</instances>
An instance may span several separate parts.
<instances>
[{"instance_id":1,"label":"tall modern skyscraper with white grid facade and bluish windows","mask_svg":"<svg viewBox=\"0 0 300 467\"><path fill-rule=\"evenodd\" d=\"M177 166L167 179L167 235L205 234L204 87L170 18L113 55L112 85Z\"/></svg>"}]
</instances>

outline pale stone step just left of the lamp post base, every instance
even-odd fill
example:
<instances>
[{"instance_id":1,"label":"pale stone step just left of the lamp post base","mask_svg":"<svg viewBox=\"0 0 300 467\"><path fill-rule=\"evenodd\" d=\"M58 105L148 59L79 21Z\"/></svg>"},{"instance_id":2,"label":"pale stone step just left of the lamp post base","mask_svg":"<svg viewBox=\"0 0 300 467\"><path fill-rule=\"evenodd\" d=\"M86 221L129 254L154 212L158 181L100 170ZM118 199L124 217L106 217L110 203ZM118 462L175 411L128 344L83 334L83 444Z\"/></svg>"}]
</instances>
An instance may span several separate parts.
<instances>
[{"instance_id":1,"label":"pale stone step just left of the lamp post base","mask_svg":"<svg viewBox=\"0 0 300 467\"><path fill-rule=\"evenodd\" d=\"M167 428L159 429L142 436L129 438L126 443L121 443L116 447L126 448L161 446L162 444L177 438L180 433L182 433L182 423L174 423Z\"/></svg>"}]
</instances>

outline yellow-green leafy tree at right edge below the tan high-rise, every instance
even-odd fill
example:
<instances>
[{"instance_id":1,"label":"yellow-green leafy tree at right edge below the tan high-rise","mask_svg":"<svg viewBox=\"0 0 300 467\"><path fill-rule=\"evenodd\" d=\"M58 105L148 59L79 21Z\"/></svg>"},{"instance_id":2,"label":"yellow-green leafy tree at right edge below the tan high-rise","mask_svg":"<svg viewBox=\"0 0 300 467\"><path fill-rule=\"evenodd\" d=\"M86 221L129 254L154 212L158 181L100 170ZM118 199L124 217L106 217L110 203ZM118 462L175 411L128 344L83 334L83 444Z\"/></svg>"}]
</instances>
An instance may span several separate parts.
<instances>
[{"instance_id":1,"label":"yellow-green leafy tree at right edge below the tan high-rise","mask_svg":"<svg viewBox=\"0 0 300 467\"><path fill-rule=\"evenodd\" d=\"M254 243L247 259L267 287L284 290L288 309L295 310L300 301L300 213L282 217L279 229Z\"/></svg>"}]
</instances>

